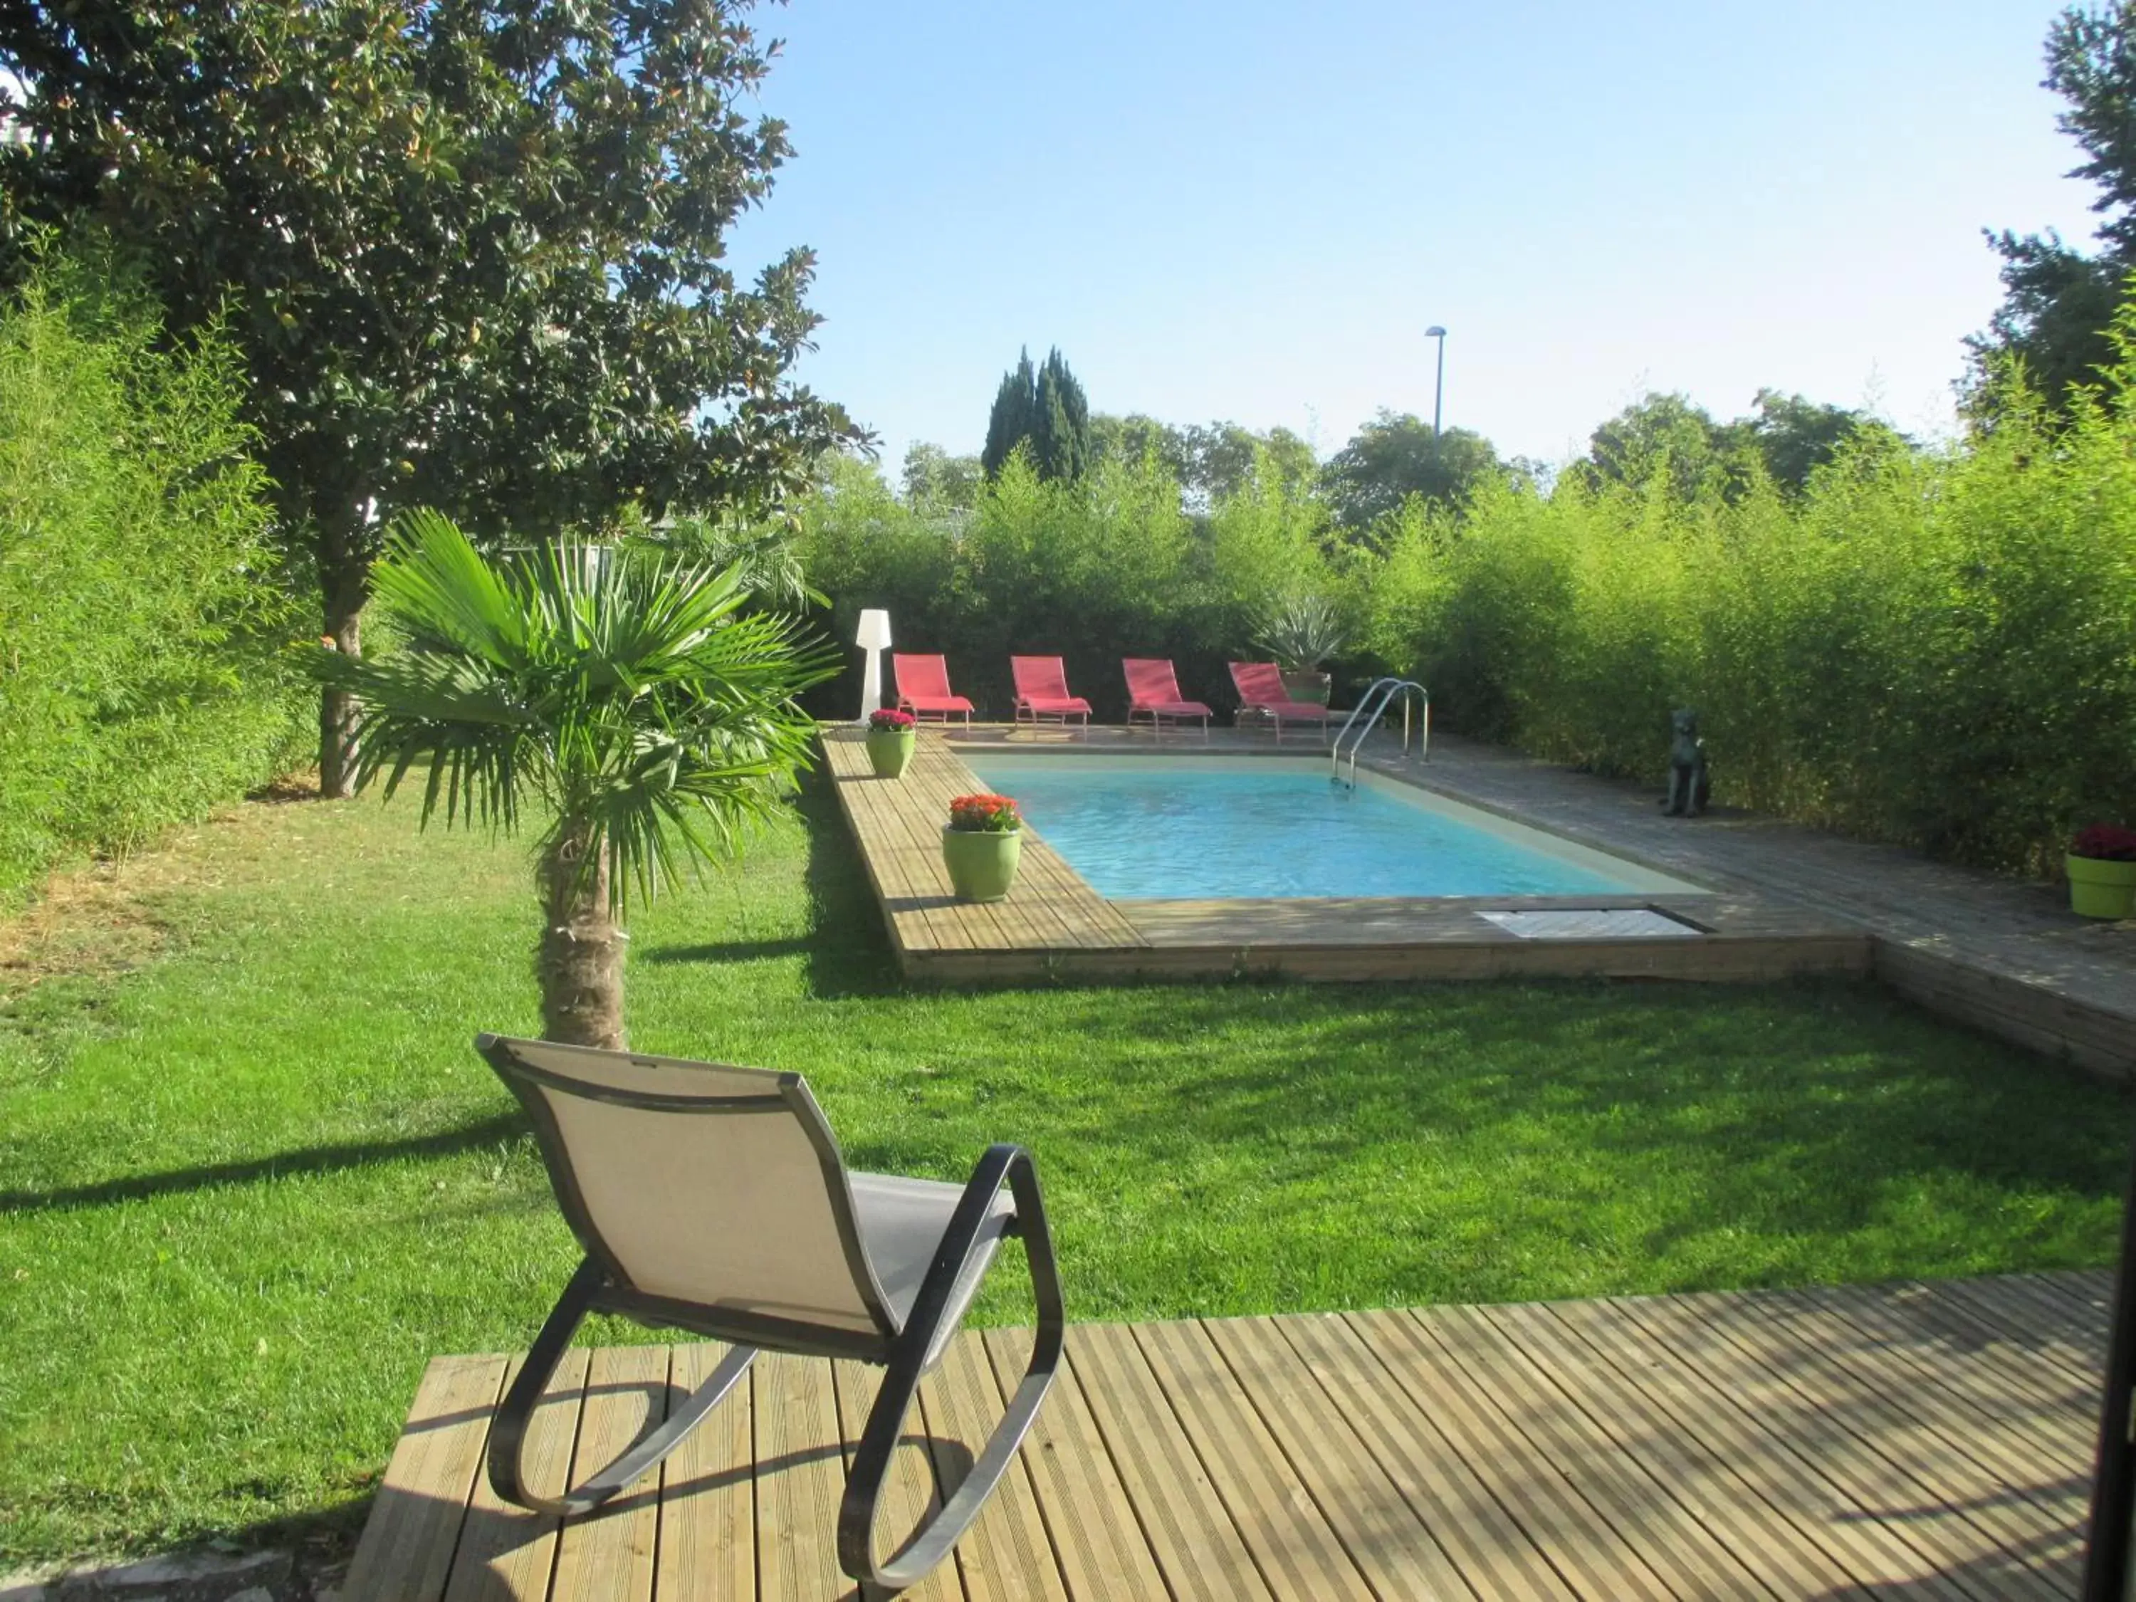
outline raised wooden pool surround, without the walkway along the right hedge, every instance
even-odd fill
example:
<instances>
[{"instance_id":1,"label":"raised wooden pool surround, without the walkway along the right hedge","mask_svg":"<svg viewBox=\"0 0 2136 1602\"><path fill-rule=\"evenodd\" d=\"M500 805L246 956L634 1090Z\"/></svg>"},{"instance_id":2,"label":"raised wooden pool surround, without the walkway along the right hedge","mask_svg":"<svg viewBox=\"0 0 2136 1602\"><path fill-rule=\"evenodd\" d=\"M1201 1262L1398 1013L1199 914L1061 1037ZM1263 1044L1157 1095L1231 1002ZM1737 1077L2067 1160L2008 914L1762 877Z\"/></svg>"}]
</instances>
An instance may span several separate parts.
<instances>
[{"instance_id":1,"label":"raised wooden pool surround, without the walkway along the right hedge","mask_svg":"<svg viewBox=\"0 0 2136 1602\"><path fill-rule=\"evenodd\" d=\"M1164 756L1312 756L1312 748L1267 739L1241 743L1117 739L989 739L978 745L1017 754L1047 752ZM1739 886L1685 893L1604 893L1568 897L1299 897L1299 899L1106 899L1059 857L1038 829L1025 829L1023 867L1004 901L970 904L951 893L940 831L948 797L985 784L944 733L921 733L901 780L878 780L863 733L850 724L820 731L824 767L839 810L867 865L869 886L889 927L899 970L914 980L951 985L1049 978L1241 978L1416 980L1416 978L1696 978L1769 980L1790 974L1867 974L1869 936L1816 910ZM1322 752L1324 754L1324 752ZM1420 782L1418 763L1395 741L1373 748L1363 767L1397 782L1476 805L1465 795ZM1655 874L1681 869L1640 861L1613 844L1538 824L1506 805L1480 805L1508 822L1572 839ZM1480 910L1647 908L1692 923L1702 933L1632 940L1532 940L1502 929Z\"/></svg>"}]
</instances>

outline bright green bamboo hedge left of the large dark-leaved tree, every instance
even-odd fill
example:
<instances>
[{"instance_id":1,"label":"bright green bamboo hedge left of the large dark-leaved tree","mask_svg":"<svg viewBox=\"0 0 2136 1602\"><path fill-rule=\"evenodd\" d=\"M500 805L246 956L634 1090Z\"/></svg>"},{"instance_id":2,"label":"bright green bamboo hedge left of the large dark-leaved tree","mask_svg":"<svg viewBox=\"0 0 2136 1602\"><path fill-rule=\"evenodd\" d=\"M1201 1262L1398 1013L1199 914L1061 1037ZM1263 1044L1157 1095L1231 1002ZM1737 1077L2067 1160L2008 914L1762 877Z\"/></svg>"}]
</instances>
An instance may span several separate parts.
<instances>
[{"instance_id":1,"label":"bright green bamboo hedge left of the large dark-leaved tree","mask_svg":"<svg viewBox=\"0 0 2136 1602\"><path fill-rule=\"evenodd\" d=\"M0 312L0 895L263 784L308 696L216 337L158 348L100 258Z\"/></svg>"}]
</instances>

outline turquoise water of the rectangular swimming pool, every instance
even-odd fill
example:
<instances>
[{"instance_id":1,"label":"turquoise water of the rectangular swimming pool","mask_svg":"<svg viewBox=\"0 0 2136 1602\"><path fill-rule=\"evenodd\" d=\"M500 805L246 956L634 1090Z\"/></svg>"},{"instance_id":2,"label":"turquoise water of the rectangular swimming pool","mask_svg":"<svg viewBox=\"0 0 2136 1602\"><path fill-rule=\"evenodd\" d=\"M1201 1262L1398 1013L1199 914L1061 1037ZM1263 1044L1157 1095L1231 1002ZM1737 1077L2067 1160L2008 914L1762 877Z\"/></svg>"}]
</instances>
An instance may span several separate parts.
<instances>
[{"instance_id":1,"label":"turquoise water of the rectangular swimming pool","mask_svg":"<svg viewBox=\"0 0 2136 1602\"><path fill-rule=\"evenodd\" d=\"M1700 889L1414 784L1331 784L1326 760L963 756L1111 899Z\"/></svg>"}]
</instances>

